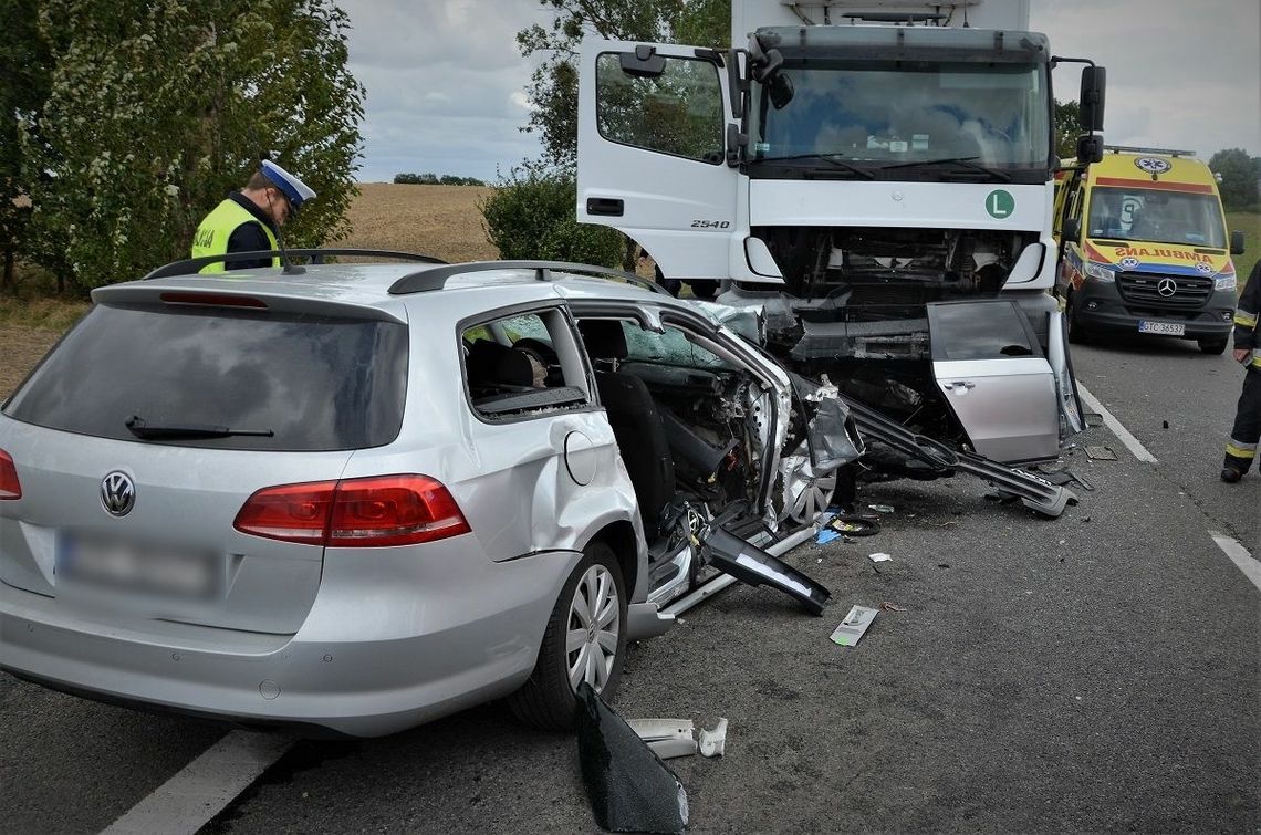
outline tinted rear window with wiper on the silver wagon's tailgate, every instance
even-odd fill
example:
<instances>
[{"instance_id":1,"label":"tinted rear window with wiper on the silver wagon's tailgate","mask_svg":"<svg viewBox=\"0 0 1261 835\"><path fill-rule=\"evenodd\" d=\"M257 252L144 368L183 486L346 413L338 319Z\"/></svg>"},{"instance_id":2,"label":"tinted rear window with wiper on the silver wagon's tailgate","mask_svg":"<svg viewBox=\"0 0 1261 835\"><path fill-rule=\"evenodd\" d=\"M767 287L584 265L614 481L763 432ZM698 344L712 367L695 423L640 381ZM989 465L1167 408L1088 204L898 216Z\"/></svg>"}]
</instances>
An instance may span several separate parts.
<instances>
[{"instance_id":1,"label":"tinted rear window with wiper on the silver wagon's tailgate","mask_svg":"<svg viewBox=\"0 0 1261 835\"><path fill-rule=\"evenodd\" d=\"M24 423L139 441L126 423L271 431L164 444L347 450L402 424L407 328L396 322L219 308L93 308L14 394ZM154 443L154 441L146 441Z\"/></svg>"}]
</instances>

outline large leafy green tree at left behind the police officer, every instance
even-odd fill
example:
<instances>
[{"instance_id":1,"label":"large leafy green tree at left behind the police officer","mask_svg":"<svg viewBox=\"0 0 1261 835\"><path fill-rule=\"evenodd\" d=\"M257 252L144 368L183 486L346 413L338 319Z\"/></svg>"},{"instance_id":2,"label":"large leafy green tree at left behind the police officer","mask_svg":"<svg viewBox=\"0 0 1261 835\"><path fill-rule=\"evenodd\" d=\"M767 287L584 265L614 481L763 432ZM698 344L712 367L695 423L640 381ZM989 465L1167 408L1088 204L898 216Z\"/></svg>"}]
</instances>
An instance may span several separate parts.
<instances>
[{"instance_id":1,"label":"large leafy green tree at left behind the police officer","mask_svg":"<svg viewBox=\"0 0 1261 835\"><path fill-rule=\"evenodd\" d=\"M28 259L86 290L187 257L267 149L318 194L285 242L348 231L363 88L329 0L37 5L53 69L43 112L19 122Z\"/></svg>"}]
</instances>

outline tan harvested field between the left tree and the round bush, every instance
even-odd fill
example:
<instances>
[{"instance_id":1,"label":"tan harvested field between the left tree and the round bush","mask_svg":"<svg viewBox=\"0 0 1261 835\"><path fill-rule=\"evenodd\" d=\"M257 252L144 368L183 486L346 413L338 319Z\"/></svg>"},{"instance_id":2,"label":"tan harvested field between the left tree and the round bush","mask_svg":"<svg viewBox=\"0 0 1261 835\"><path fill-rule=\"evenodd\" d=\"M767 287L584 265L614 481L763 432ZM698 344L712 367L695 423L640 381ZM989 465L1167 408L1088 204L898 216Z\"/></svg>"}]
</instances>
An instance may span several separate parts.
<instances>
[{"instance_id":1,"label":"tan harvested field between the left tree and the round bush","mask_svg":"<svg viewBox=\"0 0 1261 835\"><path fill-rule=\"evenodd\" d=\"M499 252L485 237L478 204L493 189L478 185L361 183L351 204L353 231L338 246L400 250L445 261L485 261Z\"/></svg>"}]
</instances>

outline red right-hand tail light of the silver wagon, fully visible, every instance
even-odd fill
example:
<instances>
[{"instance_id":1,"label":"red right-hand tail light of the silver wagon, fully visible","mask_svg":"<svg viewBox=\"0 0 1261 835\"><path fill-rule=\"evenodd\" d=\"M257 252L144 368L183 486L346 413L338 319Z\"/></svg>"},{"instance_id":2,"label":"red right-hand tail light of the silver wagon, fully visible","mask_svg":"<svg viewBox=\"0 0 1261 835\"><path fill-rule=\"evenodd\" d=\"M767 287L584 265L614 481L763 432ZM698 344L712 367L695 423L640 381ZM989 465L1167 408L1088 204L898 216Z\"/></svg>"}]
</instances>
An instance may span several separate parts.
<instances>
[{"instance_id":1,"label":"red right-hand tail light of the silver wagon, fully visible","mask_svg":"<svg viewBox=\"0 0 1261 835\"><path fill-rule=\"evenodd\" d=\"M253 536L333 547L415 545L470 530L450 491L427 476L267 487L250 497L232 526Z\"/></svg>"}]
</instances>

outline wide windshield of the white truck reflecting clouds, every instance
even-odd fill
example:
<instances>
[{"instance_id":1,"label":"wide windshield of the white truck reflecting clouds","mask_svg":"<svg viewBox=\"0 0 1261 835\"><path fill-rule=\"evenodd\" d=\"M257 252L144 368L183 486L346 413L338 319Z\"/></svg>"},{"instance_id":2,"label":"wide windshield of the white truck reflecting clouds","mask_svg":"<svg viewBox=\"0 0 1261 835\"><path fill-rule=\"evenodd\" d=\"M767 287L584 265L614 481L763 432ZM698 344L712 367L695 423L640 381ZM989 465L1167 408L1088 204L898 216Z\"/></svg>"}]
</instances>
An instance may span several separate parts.
<instances>
[{"instance_id":1,"label":"wide windshield of the white truck reflecting clouds","mask_svg":"<svg viewBox=\"0 0 1261 835\"><path fill-rule=\"evenodd\" d=\"M1047 173L1045 64L812 61L782 72L793 90L782 108L753 88L753 160L821 154L873 169L902 164L898 174L970 160Z\"/></svg>"}]
</instances>

